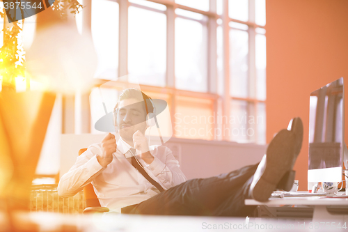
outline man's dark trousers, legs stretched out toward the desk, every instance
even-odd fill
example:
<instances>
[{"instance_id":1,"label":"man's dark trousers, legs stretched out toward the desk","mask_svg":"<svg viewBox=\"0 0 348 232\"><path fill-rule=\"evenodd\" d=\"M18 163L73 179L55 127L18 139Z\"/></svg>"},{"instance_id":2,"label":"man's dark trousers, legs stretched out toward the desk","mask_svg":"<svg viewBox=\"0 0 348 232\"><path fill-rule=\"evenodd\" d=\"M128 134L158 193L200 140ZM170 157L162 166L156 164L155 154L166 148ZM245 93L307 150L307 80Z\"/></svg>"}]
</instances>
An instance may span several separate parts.
<instances>
[{"instance_id":1,"label":"man's dark trousers, legs stretched out toward the desk","mask_svg":"<svg viewBox=\"0 0 348 232\"><path fill-rule=\"evenodd\" d=\"M187 180L152 196L122 213L141 215L201 215L246 217L256 206L245 206L244 199L258 164L210 178Z\"/></svg>"}]
</instances>

